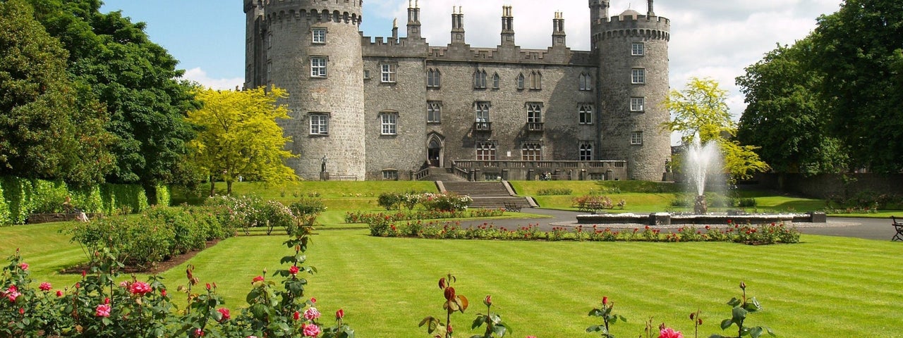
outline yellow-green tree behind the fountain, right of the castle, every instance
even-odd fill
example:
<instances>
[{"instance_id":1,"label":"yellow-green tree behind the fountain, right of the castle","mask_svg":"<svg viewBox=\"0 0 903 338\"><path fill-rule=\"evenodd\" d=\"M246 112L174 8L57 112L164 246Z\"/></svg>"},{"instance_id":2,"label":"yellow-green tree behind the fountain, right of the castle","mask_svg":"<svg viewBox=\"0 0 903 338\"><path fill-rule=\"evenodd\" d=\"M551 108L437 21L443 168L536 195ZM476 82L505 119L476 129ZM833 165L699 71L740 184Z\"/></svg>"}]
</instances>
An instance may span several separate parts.
<instances>
[{"instance_id":1,"label":"yellow-green tree behind the fountain, right of the castle","mask_svg":"<svg viewBox=\"0 0 903 338\"><path fill-rule=\"evenodd\" d=\"M736 123L731 121L728 110L727 91L718 87L711 78L690 78L684 90L672 89L665 100L665 107L671 112L672 120L663 123L663 128L678 132L684 145L693 143L694 135L700 142L717 142L724 160L724 172L731 180L750 178L755 172L769 169L768 164L759 159L756 147L740 145L734 140Z\"/></svg>"}]
</instances>

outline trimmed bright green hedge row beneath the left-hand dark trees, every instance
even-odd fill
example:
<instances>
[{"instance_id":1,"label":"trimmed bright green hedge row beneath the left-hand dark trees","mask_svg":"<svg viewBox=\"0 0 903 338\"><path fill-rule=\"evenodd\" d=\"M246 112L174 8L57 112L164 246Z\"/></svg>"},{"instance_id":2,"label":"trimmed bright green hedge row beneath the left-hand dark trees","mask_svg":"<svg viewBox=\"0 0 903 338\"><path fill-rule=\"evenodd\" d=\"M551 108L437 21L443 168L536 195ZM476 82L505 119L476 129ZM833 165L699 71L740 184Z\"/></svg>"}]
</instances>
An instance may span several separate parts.
<instances>
[{"instance_id":1,"label":"trimmed bright green hedge row beneath the left-hand dark trees","mask_svg":"<svg viewBox=\"0 0 903 338\"><path fill-rule=\"evenodd\" d=\"M65 213L73 209L88 214L117 215L141 212L150 205L169 206L168 187L157 187L156 196L156 201L148 201L144 188L139 185L68 187L61 181L2 177L0 225L24 224L31 214Z\"/></svg>"}]
</instances>

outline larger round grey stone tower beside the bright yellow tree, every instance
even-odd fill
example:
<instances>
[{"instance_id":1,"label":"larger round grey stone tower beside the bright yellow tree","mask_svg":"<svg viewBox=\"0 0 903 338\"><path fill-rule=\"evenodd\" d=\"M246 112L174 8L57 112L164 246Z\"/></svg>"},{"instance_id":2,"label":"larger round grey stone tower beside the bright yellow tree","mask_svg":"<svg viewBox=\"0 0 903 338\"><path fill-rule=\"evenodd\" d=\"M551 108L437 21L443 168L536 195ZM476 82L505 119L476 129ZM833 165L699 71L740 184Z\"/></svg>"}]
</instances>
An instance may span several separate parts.
<instances>
[{"instance_id":1,"label":"larger round grey stone tower beside the bright yellow tree","mask_svg":"<svg viewBox=\"0 0 903 338\"><path fill-rule=\"evenodd\" d=\"M322 179L366 172L362 0L264 1L259 32L265 57L262 84L289 93L283 121L298 176ZM246 6L247 13L247 6Z\"/></svg>"}]
</instances>

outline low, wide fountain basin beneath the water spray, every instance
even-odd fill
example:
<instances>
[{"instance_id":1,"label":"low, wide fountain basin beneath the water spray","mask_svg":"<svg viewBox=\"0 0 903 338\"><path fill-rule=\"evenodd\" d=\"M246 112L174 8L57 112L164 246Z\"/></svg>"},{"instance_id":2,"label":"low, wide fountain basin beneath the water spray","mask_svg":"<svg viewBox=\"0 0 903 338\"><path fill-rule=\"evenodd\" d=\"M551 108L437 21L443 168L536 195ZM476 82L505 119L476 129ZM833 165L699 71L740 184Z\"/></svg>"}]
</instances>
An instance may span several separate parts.
<instances>
[{"instance_id":1,"label":"low, wide fountain basin beneath the water spray","mask_svg":"<svg viewBox=\"0 0 903 338\"><path fill-rule=\"evenodd\" d=\"M825 223L827 217L824 213L805 214L768 214L768 215L682 215L669 213L654 213L650 215L625 214L601 214L601 215L577 215L577 224L769 224L769 223Z\"/></svg>"}]
</instances>

